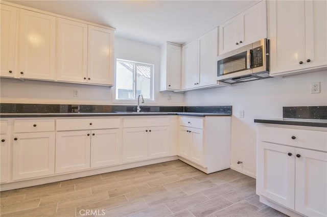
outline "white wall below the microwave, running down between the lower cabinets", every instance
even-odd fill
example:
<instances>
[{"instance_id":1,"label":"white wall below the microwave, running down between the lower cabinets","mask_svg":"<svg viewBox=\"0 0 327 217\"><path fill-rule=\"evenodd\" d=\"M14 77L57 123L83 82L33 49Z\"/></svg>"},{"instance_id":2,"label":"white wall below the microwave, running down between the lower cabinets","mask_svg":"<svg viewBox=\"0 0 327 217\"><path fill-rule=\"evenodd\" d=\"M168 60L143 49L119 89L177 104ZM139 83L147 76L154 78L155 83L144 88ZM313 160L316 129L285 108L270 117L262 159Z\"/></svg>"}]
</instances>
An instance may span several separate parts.
<instances>
[{"instance_id":1,"label":"white wall below the microwave, running down between the lower cabinets","mask_svg":"<svg viewBox=\"0 0 327 217\"><path fill-rule=\"evenodd\" d=\"M311 94L310 84L321 83ZM186 105L232 105L231 167L250 176L256 172L256 124L253 119L282 118L283 106L327 105L327 71L269 78L231 87L185 93ZM244 110L244 119L238 118ZM238 165L237 161L243 161Z\"/></svg>"}]
</instances>

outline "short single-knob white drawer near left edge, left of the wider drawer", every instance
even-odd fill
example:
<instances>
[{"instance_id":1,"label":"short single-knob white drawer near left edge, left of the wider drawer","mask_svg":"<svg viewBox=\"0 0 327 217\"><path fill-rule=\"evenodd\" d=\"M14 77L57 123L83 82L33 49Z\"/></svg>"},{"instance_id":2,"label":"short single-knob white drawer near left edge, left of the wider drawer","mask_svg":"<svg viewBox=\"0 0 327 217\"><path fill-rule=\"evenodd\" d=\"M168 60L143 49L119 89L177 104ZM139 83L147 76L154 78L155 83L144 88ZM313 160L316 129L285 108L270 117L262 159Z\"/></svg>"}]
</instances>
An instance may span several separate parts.
<instances>
[{"instance_id":1,"label":"short single-knob white drawer near left edge, left of the wider drawer","mask_svg":"<svg viewBox=\"0 0 327 217\"><path fill-rule=\"evenodd\" d=\"M14 120L14 132L55 131L54 119Z\"/></svg>"}]
</instances>

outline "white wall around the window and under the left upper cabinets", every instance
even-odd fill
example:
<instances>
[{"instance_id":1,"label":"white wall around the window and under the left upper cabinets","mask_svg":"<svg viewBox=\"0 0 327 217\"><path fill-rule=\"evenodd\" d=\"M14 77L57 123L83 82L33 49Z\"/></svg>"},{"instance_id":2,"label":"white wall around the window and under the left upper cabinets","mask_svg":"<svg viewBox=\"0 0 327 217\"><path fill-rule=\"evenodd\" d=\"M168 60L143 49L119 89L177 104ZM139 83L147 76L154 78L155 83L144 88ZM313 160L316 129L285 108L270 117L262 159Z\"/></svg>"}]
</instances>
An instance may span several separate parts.
<instances>
[{"instance_id":1,"label":"white wall around the window and under the left upper cabinets","mask_svg":"<svg viewBox=\"0 0 327 217\"><path fill-rule=\"evenodd\" d=\"M159 55L158 46L115 38L116 58L154 64L156 103L151 105L183 105L183 94L159 93ZM113 91L103 86L1 78L0 88L2 103L115 104L112 102ZM75 89L80 91L79 97L74 97Z\"/></svg>"}]
</instances>

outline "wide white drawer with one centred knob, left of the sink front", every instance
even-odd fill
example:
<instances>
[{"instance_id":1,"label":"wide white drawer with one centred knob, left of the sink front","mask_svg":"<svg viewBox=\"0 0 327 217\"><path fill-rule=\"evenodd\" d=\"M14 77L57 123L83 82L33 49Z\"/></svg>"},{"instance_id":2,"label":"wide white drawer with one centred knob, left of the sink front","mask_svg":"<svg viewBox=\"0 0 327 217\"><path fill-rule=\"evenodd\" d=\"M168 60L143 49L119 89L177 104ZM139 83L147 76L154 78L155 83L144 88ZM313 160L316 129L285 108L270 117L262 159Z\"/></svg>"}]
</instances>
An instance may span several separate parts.
<instances>
[{"instance_id":1,"label":"wide white drawer with one centred knob, left of the sink front","mask_svg":"<svg viewBox=\"0 0 327 217\"><path fill-rule=\"evenodd\" d=\"M57 119L57 130L120 128L120 118L71 118Z\"/></svg>"}]
</instances>

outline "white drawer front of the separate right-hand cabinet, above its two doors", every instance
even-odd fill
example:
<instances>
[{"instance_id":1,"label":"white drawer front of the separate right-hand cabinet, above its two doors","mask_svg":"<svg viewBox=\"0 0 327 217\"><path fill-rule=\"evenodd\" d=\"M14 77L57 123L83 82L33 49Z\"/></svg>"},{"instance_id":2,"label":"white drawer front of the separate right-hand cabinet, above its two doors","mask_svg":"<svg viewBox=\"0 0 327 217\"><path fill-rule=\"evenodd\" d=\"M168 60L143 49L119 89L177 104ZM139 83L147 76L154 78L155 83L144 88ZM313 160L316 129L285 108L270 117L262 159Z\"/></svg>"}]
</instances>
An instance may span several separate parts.
<instances>
[{"instance_id":1,"label":"white drawer front of the separate right-hand cabinet, above its two doors","mask_svg":"<svg viewBox=\"0 0 327 217\"><path fill-rule=\"evenodd\" d=\"M326 131L260 126L258 135L263 142L327 151Z\"/></svg>"}]
</instances>

